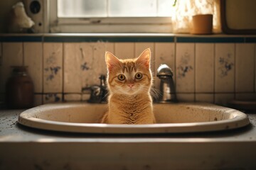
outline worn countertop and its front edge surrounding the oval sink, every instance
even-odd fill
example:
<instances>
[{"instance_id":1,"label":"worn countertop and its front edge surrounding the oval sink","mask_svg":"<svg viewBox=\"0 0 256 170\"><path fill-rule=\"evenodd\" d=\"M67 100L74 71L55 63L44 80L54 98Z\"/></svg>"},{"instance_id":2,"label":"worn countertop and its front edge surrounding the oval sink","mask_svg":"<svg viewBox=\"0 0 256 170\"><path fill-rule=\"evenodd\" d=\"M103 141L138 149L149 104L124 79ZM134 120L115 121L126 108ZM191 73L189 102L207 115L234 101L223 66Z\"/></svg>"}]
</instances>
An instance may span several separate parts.
<instances>
[{"instance_id":1,"label":"worn countertop and its front edge surrounding the oval sink","mask_svg":"<svg viewBox=\"0 0 256 170\"><path fill-rule=\"evenodd\" d=\"M165 135L52 132L0 111L0 169L256 169L256 114L237 130Z\"/></svg>"}]
</instances>

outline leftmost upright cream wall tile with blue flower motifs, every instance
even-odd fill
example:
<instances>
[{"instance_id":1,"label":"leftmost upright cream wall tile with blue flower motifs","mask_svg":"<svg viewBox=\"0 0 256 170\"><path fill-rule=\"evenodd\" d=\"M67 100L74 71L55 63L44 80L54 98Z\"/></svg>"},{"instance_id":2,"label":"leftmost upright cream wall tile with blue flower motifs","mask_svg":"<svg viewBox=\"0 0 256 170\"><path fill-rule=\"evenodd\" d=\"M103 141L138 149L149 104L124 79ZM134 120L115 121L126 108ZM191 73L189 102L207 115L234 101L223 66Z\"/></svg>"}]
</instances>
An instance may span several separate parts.
<instances>
[{"instance_id":1,"label":"leftmost upright cream wall tile with blue flower motifs","mask_svg":"<svg viewBox=\"0 0 256 170\"><path fill-rule=\"evenodd\" d=\"M43 43L43 92L63 91L63 43Z\"/></svg>"}]
</instances>

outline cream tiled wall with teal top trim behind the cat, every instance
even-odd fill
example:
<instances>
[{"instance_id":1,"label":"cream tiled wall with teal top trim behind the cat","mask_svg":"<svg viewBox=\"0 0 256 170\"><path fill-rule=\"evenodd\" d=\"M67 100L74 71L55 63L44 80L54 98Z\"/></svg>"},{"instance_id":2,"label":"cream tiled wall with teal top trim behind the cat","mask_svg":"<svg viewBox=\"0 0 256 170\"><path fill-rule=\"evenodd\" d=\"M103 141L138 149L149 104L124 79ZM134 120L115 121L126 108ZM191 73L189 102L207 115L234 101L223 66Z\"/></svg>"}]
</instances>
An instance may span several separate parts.
<instances>
[{"instance_id":1,"label":"cream tiled wall with teal top trim behind the cat","mask_svg":"<svg viewBox=\"0 0 256 170\"><path fill-rule=\"evenodd\" d=\"M126 59L137 57L147 47L151 48L154 73L162 63L174 70L179 101L225 106L233 99L256 99L256 38L58 38L1 38L1 101L13 65L28 66L35 106L87 101L90 86L100 84L98 77L106 74L106 50ZM157 77L154 84L159 89Z\"/></svg>"}]
</instances>

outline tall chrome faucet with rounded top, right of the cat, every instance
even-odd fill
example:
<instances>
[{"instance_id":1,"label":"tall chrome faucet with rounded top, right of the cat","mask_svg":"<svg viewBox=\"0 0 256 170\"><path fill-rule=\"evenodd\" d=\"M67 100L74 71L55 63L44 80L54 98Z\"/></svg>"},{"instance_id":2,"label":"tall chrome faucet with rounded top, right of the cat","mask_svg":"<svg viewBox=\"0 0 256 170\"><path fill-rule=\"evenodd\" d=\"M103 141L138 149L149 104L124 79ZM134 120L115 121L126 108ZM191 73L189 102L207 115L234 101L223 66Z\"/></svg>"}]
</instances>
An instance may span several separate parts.
<instances>
[{"instance_id":1,"label":"tall chrome faucet with rounded top, right of the cat","mask_svg":"<svg viewBox=\"0 0 256 170\"><path fill-rule=\"evenodd\" d=\"M176 90L174 86L174 72L166 64L161 64L157 69L157 77L160 81L160 98L159 103L177 102Z\"/></svg>"}]
</instances>

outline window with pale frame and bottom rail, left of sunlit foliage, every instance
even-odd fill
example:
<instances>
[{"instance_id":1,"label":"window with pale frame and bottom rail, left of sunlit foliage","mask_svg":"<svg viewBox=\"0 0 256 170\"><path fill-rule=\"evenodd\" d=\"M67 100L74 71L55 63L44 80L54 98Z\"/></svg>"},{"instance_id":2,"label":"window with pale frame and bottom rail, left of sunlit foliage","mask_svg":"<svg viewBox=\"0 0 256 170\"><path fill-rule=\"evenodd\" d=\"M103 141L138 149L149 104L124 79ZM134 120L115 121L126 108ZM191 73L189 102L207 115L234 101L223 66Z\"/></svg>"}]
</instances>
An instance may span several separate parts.
<instances>
[{"instance_id":1,"label":"window with pale frame and bottom rail, left of sunlit foliage","mask_svg":"<svg viewBox=\"0 0 256 170\"><path fill-rule=\"evenodd\" d=\"M174 0L54 0L54 33L170 33ZM56 10L57 8L57 10Z\"/></svg>"}]
</instances>

